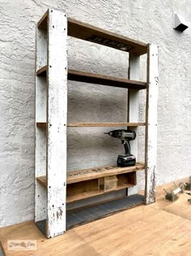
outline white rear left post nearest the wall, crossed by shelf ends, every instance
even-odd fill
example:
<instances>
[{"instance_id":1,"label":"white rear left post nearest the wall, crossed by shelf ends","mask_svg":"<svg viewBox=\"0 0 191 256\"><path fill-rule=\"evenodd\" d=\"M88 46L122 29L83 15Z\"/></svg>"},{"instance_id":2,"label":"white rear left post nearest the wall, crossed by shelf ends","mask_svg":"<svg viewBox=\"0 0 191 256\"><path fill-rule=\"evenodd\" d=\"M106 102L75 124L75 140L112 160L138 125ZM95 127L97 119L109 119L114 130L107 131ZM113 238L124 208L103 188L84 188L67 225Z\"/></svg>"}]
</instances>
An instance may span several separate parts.
<instances>
[{"instance_id":1,"label":"white rear left post nearest the wall, crossed by shelf ends","mask_svg":"<svg viewBox=\"0 0 191 256\"><path fill-rule=\"evenodd\" d=\"M47 33L36 26L36 71L47 63ZM36 76L36 123L46 120L46 78ZM46 175L46 132L37 128L35 143L35 222L46 219L46 189L36 181L36 177Z\"/></svg>"}]
</instances>

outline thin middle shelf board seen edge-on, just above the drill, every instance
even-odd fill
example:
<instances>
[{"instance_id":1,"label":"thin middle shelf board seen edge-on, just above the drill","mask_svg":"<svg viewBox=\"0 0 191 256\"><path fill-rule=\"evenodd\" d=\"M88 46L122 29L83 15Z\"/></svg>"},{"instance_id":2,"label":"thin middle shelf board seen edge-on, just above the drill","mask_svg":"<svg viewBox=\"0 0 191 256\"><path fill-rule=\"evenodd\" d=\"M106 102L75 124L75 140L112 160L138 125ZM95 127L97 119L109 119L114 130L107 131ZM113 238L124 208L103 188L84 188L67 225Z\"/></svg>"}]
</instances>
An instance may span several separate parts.
<instances>
[{"instance_id":1,"label":"thin middle shelf board seen edge-on, just above the drill","mask_svg":"<svg viewBox=\"0 0 191 256\"><path fill-rule=\"evenodd\" d=\"M121 127L121 126L146 126L146 123L73 123L67 124L67 127ZM38 128L46 128L46 123L36 123Z\"/></svg>"}]
</instances>

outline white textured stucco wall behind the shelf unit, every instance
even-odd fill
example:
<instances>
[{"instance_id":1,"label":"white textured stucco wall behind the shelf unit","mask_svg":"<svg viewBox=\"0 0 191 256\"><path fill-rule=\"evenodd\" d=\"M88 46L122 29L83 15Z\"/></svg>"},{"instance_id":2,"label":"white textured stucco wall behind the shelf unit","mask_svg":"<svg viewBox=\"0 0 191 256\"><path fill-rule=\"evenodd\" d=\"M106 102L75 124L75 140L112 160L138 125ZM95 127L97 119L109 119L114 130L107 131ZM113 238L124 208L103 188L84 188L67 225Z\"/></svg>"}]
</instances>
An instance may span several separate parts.
<instances>
[{"instance_id":1,"label":"white textured stucco wall behind the shelf unit","mask_svg":"<svg viewBox=\"0 0 191 256\"><path fill-rule=\"evenodd\" d=\"M35 24L49 7L159 46L157 184L191 174L191 30L172 29L173 11L185 16L191 27L190 0L1 0L0 226L34 215ZM127 55L70 39L69 66L76 69L126 77ZM124 121L125 89L70 82L68 108L70 122ZM123 149L120 141L103 136L106 130L70 128L69 170L115 163ZM140 140L139 159L142 151ZM138 189L142 187L139 175Z\"/></svg>"}]
</instances>

